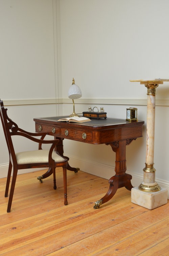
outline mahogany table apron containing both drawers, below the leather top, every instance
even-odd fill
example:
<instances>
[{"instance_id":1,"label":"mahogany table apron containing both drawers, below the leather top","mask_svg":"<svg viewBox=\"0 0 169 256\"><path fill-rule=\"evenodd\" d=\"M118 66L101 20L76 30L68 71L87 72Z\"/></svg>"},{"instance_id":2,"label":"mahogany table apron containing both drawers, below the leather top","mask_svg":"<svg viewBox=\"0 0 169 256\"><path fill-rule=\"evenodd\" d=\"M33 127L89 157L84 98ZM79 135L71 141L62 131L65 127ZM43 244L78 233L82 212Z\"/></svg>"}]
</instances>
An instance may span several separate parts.
<instances>
[{"instance_id":1,"label":"mahogany table apron containing both drawers, below the leather top","mask_svg":"<svg viewBox=\"0 0 169 256\"><path fill-rule=\"evenodd\" d=\"M142 137L142 125L135 125L130 127L103 128L97 129L83 129L61 127L57 125L42 124L36 122L35 131L38 133L47 132L54 137L70 139L90 144L104 144L112 141L120 141L125 139L132 139Z\"/></svg>"}]
</instances>

